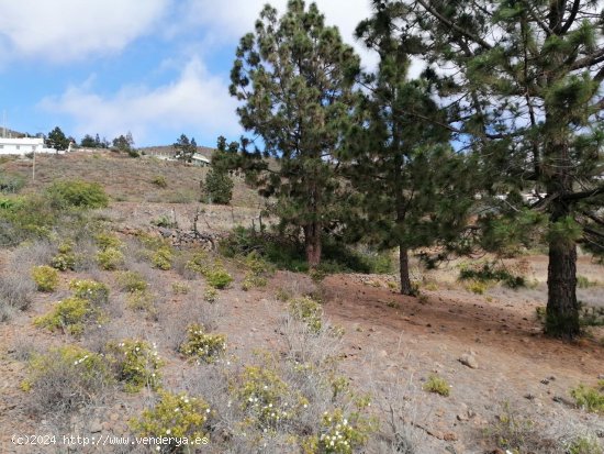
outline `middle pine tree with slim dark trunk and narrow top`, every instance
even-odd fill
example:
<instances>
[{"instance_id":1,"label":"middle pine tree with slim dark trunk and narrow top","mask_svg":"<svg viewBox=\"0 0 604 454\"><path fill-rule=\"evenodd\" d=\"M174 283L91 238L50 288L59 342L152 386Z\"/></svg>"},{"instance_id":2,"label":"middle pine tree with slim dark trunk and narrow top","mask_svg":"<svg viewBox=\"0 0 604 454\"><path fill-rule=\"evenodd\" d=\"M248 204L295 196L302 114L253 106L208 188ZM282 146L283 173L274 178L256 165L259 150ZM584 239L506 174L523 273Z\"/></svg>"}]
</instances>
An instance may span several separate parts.
<instances>
[{"instance_id":1,"label":"middle pine tree with slim dark trunk and narrow top","mask_svg":"<svg viewBox=\"0 0 604 454\"><path fill-rule=\"evenodd\" d=\"M409 56L394 35L394 11L376 9L357 27L357 36L374 49L376 74L362 77L365 96L349 137L350 181L360 193L365 240L399 247L401 292L413 295L409 251L456 240L472 206L466 159L454 153L444 114L423 80L407 79ZM407 112L433 122L417 121ZM358 230L358 225L351 224Z\"/></svg>"}]
</instances>

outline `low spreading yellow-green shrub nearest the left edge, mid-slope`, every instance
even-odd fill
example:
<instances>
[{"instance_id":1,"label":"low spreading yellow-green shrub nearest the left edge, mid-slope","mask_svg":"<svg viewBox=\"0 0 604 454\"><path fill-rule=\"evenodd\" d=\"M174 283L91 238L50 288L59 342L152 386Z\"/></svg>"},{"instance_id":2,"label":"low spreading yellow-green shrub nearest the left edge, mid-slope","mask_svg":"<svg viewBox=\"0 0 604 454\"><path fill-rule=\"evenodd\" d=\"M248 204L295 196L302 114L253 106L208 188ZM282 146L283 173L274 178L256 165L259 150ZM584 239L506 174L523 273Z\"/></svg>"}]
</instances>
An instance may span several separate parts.
<instances>
[{"instance_id":1,"label":"low spreading yellow-green shrub nearest the left edge, mid-slope","mask_svg":"<svg viewBox=\"0 0 604 454\"><path fill-rule=\"evenodd\" d=\"M34 324L51 331L60 329L71 335L80 335L85 323L93 319L100 320L98 309L87 299L71 297L57 302L51 312L35 319Z\"/></svg>"}]
</instances>

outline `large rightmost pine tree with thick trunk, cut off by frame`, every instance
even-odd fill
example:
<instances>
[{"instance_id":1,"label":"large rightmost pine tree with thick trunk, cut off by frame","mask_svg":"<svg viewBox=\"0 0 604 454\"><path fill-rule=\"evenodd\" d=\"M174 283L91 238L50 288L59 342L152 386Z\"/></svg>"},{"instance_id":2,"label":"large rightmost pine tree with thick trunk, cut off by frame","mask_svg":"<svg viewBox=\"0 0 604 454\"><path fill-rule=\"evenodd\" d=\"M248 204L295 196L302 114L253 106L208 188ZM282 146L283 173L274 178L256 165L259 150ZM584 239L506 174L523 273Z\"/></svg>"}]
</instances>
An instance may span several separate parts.
<instances>
[{"instance_id":1,"label":"large rightmost pine tree with thick trunk, cut off by frame","mask_svg":"<svg viewBox=\"0 0 604 454\"><path fill-rule=\"evenodd\" d=\"M401 45L423 58L449 114L447 126L480 157L485 193L506 195L523 218L528 210L547 217L546 331L579 335L577 246L604 251L601 3L374 3L396 4ZM522 191L536 202L523 202Z\"/></svg>"}]
</instances>

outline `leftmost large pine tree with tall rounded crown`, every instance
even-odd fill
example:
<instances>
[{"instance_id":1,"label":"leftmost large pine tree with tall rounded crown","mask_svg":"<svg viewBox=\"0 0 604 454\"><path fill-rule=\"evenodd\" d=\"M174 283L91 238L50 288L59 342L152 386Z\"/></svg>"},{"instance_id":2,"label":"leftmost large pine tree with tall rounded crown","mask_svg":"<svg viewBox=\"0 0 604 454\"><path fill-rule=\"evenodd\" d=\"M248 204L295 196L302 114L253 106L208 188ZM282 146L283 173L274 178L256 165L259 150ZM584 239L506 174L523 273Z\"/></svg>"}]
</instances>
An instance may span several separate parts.
<instances>
[{"instance_id":1,"label":"leftmost large pine tree with tall rounded crown","mask_svg":"<svg viewBox=\"0 0 604 454\"><path fill-rule=\"evenodd\" d=\"M306 9L304 1L291 0L281 18L265 7L255 33L241 40L231 75L231 93L244 101L241 123L264 146L264 154L247 152L244 141L247 178L276 198L282 225L302 230L313 267L321 262L323 231L339 215L335 152L358 68L359 58L336 27L325 25L316 4Z\"/></svg>"}]
</instances>

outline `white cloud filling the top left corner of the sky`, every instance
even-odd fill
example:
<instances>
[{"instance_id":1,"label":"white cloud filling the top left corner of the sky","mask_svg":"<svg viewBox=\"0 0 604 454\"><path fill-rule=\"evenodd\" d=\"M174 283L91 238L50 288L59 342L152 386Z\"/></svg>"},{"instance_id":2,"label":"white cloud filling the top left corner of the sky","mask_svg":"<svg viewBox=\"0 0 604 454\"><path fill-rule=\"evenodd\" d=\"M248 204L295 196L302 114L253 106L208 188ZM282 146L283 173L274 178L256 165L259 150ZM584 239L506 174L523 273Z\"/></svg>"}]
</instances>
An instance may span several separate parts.
<instances>
[{"instance_id":1,"label":"white cloud filling the top left corner of the sky","mask_svg":"<svg viewBox=\"0 0 604 454\"><path fill-rule=\"evenodd\" d=\"M3 59L111 54L149 32L171 0L0 0ZM3 44L3 45L2 45Z\"/></svg>"}]
</instances>

